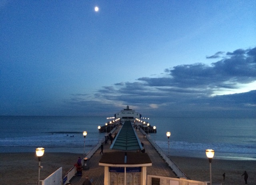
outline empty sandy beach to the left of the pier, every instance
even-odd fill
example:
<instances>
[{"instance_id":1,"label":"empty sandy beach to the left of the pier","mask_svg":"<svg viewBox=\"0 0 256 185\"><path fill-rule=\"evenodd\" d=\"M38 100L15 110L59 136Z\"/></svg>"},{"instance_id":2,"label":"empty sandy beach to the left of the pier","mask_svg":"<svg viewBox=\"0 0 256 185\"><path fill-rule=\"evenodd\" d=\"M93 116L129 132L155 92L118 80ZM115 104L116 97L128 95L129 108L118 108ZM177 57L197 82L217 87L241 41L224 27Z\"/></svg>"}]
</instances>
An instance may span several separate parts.
<instances>
[{"instance_id":1,"label":"empty sandy beach to the left of the pier","mask_svg":"<svg viewBox=\"0 0 256 185\"><path fill-rule=\"evenodd\" d=\"M82 155L81 155L82 156ZM64 175L77 162L76 153L44 153L40 180L62 167ZM0 153L0 185L26 185L38 181L36 153Z\"/></svg>"}]
</instances>

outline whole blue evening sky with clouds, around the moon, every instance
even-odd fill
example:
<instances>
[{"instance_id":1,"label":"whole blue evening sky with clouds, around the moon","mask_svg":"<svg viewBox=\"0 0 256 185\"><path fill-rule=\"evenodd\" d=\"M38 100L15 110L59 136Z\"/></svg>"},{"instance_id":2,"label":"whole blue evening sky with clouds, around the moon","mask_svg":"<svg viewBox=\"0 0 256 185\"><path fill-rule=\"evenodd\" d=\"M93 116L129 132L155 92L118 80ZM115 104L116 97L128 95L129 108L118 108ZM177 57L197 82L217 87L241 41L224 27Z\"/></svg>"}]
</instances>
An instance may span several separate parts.
<instances>
[{"instance_id":1,"label":"whole blue evening sky with clouds, around the moon","mask_svg":"<svg viewBox=\"0 0 256 185\"><path fill-rule=\"evenodd\" d=\"M0 0L0 115L129 105L146 117L255 118L255 10L254 0Z\"/></svg>"}]
</instances>

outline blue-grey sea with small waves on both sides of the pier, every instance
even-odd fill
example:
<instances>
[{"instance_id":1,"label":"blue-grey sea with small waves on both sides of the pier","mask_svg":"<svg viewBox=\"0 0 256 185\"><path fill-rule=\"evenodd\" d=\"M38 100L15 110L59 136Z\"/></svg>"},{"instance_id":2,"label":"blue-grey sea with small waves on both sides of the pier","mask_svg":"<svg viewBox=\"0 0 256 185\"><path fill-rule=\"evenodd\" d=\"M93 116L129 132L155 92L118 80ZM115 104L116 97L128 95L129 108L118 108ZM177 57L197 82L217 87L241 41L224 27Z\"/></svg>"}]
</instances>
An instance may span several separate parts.
<instances>
[{"instance_id":1,"label":"blue-grey sea with small waves on both sides of the pier","mask_svg":"<svg viewBox=\"0 0 256 185\"><path fill-rule=\"evenodd\" d=\"M0 116L0 153L45 152L82 154L90 151L105 133L99 133L107 117L88 116ZM170 131L170 157L206 158L205 150L214 149L214 158L256 160L256 119L150 117L156 133L150 137L166 153ZM83 131L88 134L84 140Z\"/></svg>"}]
</instances>

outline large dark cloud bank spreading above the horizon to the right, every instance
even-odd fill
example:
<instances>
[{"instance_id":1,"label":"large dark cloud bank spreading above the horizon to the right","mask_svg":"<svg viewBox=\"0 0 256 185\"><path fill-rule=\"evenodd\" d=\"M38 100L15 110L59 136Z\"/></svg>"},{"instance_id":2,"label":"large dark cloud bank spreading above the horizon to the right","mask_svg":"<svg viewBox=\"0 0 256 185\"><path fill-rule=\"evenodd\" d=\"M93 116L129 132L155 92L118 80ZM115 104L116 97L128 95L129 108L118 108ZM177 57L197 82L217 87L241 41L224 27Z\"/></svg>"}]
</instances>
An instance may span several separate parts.
<instances>
[{"instance_id":1,"label":"large dark cloud bank spreading above the horizon to the right","mask_svg":"<svg viewBox=\"0 0 256 185\"><path fill-rule=\"evenodd\" d=\"M236 90L256 81L256 48L217 52L222 59L211 65L202 63L165 69L165 77L142 77L137 82L104 86L95 93L97 101L70 100L72 106L100 106L114 109L136 106L148 113L170 116L249 116L256 115L256 90L216 95L220 90ZM211 56L213 58L213 56ZM209 58L211 58L209 57ZM166 76L167 75L167 76ZM217 93L218 94L218 93ZM104 106L103 106L104 105Z\"/></svg>"}]
</instances>

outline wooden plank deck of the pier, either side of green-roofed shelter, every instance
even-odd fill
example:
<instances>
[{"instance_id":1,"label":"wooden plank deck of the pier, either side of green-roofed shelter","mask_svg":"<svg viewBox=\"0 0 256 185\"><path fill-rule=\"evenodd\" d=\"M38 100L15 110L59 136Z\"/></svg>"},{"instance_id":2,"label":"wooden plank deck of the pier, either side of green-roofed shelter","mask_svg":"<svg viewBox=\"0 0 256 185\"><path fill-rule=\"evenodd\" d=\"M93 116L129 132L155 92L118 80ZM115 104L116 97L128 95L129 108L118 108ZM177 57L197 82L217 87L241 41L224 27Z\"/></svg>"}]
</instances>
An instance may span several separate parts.
<instances>
[{"instance_id":1,"label":"wooden plank deck of the pier, either side of green-roofed shelter","mask_svg":"<svg viewBox=\"0 0 256 185\"><path fill-rule=\"evenodd\" d=\"M159 153L154 149L154 147L150 144L148 139L144 138L144 135L138 129L136 131L140 141L144 143L144 148L146 153L148 153L152 166L147 167L147 175L157 175L164 177L174 177L177 178L176 174L172 171L172 169L167 165L167 163L162 159ZM105 152L114 152L115 150L110 149L110 141L108 144L104 144L104 153ZM94 155L88 160L87 166L88 170L83 170L82 176L73 177L70 180L72 185L82 185L86 176L89 179L92 179L93 185L104 185L104 166L99 166L99 161L102 157L100 154L100 148L94 153Z\"/></svg>"}]
</instances>

